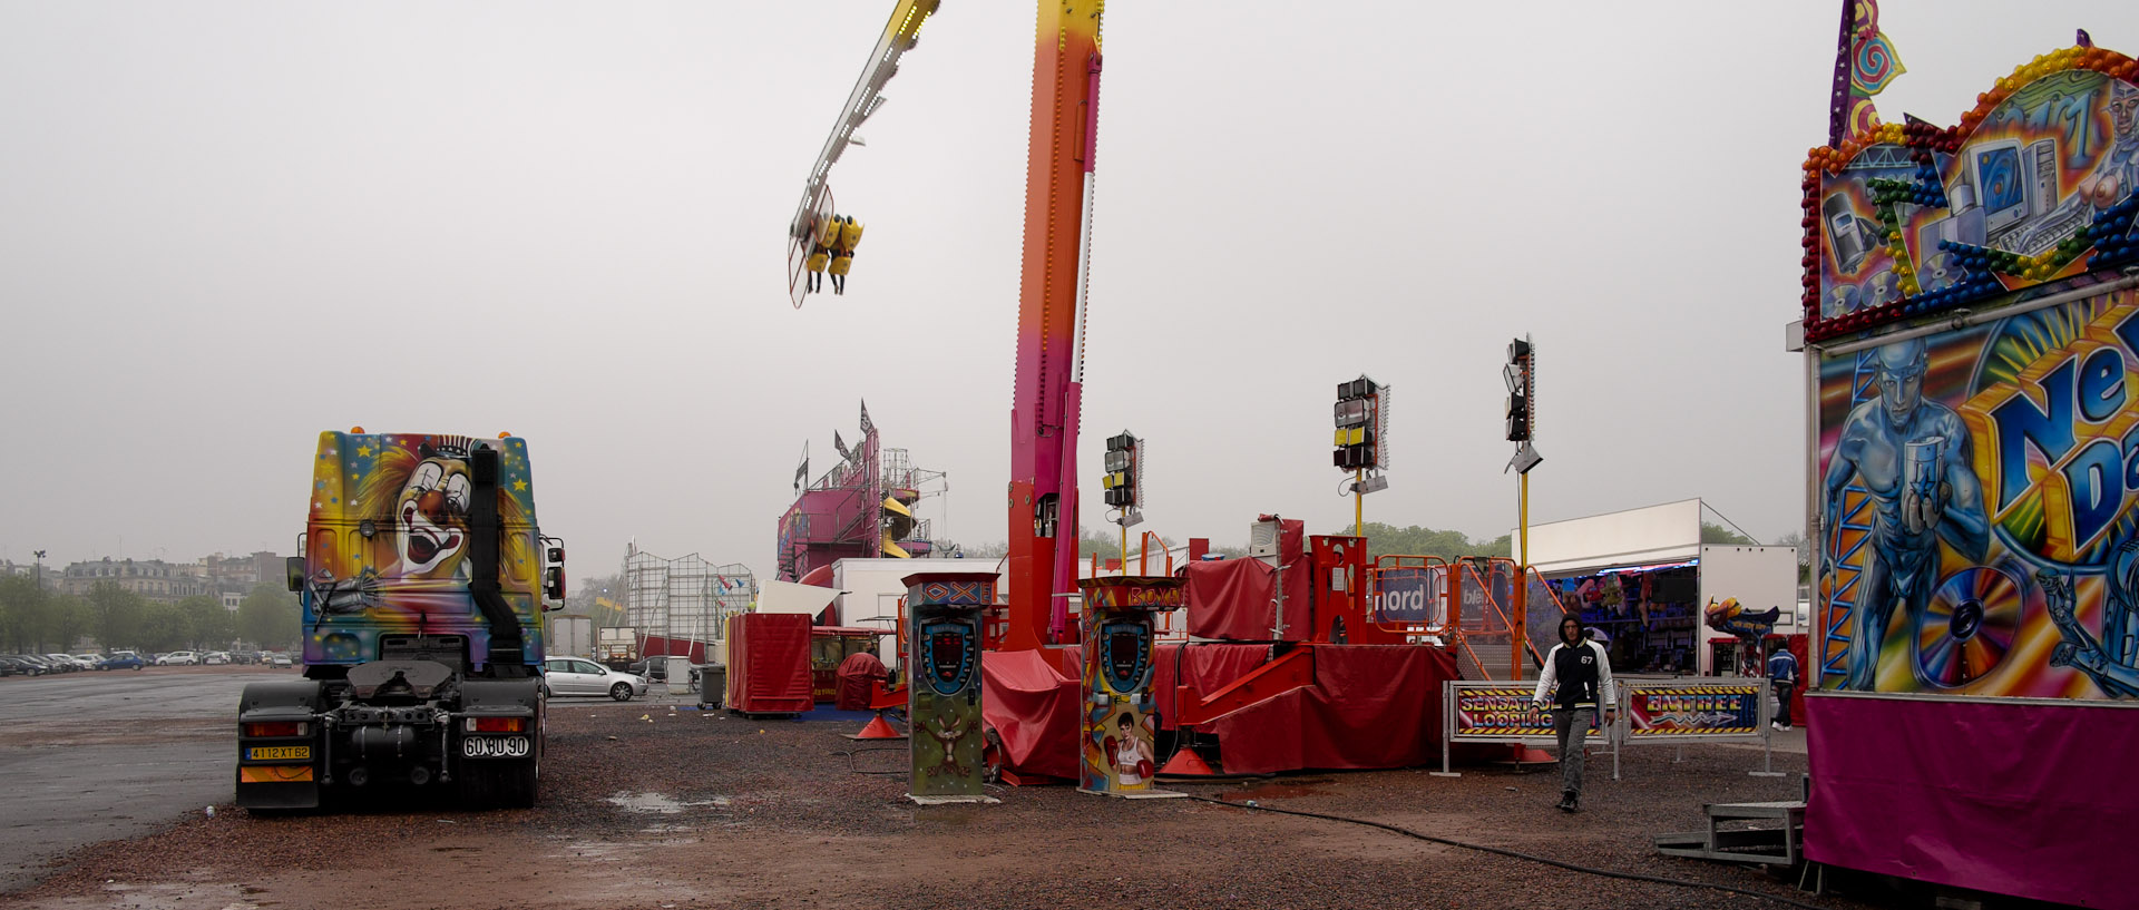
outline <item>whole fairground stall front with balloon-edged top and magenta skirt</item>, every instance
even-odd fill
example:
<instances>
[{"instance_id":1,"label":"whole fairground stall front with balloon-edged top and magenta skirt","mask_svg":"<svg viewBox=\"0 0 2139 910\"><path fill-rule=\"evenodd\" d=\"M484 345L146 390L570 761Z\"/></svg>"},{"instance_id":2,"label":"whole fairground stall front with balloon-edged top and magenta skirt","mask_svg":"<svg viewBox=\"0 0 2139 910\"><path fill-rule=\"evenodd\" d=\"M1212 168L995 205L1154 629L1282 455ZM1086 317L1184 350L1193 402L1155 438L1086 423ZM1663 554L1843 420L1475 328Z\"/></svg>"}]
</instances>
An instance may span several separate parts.
<instances>
[{"instance_id":1,"label":"whole fairground stall front with balloon-edged top and magenta skirt","mask_svg":"<svg viewBox=\"0 0 2139 910\"><path fill-rule=\"evenodd\" d=\"M1951 126L1878 124L1891 49L1846 6L1790 327L1820 545L1805 854L2130 906L2139 73L2079 32Z\"/></svg>"}]
</instances>

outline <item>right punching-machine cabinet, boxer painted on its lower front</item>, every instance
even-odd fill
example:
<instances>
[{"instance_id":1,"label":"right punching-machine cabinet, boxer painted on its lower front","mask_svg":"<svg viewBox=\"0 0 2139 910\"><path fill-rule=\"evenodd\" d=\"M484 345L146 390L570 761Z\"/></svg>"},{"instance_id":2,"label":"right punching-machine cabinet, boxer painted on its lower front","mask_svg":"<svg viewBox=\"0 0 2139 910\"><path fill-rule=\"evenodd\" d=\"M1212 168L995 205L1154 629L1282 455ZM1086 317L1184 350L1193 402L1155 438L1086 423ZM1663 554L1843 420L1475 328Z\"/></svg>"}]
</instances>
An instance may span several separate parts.
<instances>
[{"instance_id":1,"label":"right punching-machine cabinet, boxer painted on its lower front","mask_svg":"<svg viewBox=\"0 0 2139 910\"><path fill-rule=\"evenodd\" d=\"M1149 793L1157 773L1151 696L1153 615L1187 602L1187 579L1082 579L1084 737L1078 786Z\"/></svg>"}]
</instances>

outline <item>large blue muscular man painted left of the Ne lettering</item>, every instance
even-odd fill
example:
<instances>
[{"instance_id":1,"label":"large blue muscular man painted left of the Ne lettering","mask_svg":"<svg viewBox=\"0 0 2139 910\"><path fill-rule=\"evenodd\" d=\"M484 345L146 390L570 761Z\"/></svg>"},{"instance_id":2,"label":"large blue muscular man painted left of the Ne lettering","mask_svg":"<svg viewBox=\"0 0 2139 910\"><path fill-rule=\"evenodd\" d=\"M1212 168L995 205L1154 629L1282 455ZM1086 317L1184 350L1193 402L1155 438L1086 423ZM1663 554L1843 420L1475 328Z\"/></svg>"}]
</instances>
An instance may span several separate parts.
<instances>
[{"instance_id":1,"label":"large blue muscular man painted left of the Ne lettering","mask_svg":"<svg viewBox=\"0 0 2139 910\"><path fill-rule=\"evenodd\" d=\"M1929 605L1938 585L1938 538L1972 562L1983 562L1989 549L1968 427L1953 408L1923 399L1929 367L1923 340L1880 346L1876 367L1878 397L1850 412L1827 466L1829 525L1842 519L1850 476L1872 493L1872 553L1857 581L1857 628L1842 679L1842 688L1861 692L1876 681L1893 607L1908 605L1917 613Z\"/></svg>"}]
</instances>

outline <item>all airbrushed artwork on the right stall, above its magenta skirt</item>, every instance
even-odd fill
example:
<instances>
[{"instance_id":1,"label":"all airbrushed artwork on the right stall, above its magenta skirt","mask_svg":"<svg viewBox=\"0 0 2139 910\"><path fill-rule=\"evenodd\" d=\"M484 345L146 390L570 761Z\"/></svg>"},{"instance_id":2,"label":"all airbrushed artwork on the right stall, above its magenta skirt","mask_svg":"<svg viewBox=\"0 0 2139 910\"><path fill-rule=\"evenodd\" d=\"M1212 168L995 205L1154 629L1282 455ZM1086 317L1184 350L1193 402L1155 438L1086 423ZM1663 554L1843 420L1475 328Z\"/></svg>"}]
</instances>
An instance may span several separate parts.
<instances>
[{"instance_id":1,"label":"all airbrushed artwork on the right stall, above its magenta skirt","mask_svg":"<svg viewBox=\"0 0 2139 910\"><path fill-rule=\"evenodd\" d=\"M2139 694L2139 88L2086 60L1807 177L1825 688Z\"/></svg>"}]
</instances>

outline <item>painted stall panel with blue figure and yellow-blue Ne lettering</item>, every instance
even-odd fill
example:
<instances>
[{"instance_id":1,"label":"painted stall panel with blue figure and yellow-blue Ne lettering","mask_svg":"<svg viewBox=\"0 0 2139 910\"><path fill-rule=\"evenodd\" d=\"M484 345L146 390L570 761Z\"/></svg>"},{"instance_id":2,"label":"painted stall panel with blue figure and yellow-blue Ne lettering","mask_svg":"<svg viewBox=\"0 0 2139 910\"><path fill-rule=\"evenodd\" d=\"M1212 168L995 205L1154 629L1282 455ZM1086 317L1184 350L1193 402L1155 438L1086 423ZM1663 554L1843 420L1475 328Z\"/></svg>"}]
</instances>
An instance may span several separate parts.
<instances>
[{"instance_id":1,"label":"painted stall panel with blue figure and yellow-blue Ne lettering","mask_svg":"<svg viewBox=\"0 0 2139 910\"><path fill-rule=\"evenodd\" d=\"M2139 299L1820 359L1825 688L2139 694Z\"/></svg>"}]
</instances>

